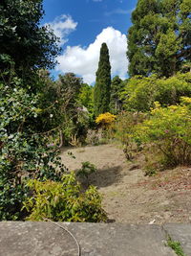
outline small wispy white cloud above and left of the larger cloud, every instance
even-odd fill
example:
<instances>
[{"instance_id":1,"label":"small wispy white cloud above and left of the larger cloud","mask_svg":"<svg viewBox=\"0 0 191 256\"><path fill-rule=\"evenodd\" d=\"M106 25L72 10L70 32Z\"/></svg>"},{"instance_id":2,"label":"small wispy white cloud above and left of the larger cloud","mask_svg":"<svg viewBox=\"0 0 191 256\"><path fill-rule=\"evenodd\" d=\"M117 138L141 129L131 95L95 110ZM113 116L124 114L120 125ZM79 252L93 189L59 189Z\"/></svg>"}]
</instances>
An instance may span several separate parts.
<instances>
[{"instance_id":1,"label":"small wispy white cloud above and left of the larger cloud","mask_svg":"<svg viewBox=\"0 0 191 256\"><path fill-rule=\"evenodd\" d=\"M77 22L74 22L70 15L62 14L56 17L53 22L46 23L45 26L50 26L53 29L54 35L60 38L59 44L63 45L68 41L67 36L75 30Z\"/></svg>"}]
</instances>

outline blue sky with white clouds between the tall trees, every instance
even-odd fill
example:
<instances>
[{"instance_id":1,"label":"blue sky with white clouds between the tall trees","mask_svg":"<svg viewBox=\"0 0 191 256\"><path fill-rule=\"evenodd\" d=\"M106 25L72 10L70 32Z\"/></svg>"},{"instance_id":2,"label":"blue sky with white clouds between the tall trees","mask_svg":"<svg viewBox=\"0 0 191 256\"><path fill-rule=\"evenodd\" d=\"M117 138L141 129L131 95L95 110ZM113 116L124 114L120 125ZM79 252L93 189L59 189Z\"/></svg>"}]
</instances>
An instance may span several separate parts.
<instances>
[{"instance_id":1,"label":"blue sky with white clouds between the tall trees","mask_svg":"<svg viewBox=\"0 0 191 256\"><path fill-rule=\"evenodd\" d=\"M107 43L112 77L127 77L127 31L137 0L44 0L43 25L60 37L62 51L52 74L73 72L94 84L99 51Z\"/></svg>"}]
</instances>

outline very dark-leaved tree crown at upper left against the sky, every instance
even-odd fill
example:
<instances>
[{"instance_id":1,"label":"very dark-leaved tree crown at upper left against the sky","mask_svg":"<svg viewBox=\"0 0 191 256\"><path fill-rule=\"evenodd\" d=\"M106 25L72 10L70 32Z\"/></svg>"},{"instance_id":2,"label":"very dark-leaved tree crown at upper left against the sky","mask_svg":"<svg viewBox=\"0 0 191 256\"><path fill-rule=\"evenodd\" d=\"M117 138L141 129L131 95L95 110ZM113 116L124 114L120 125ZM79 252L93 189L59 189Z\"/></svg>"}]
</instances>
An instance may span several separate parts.
<instances>
[{"instance_id":1,"label":"very dark-leaved tree crown at upper left against the sky","mask_svg":"<svg viewBox=\"0 0 191 256\"><path fill-rule=\"evenodd\" d=\"M58 53L53 32L39 26L42 0L1 0L0 13L0 70L10 67L2 58L11 58L16 76L29 83L33 70L52 68Z\"/></svg>"}]
</instances>

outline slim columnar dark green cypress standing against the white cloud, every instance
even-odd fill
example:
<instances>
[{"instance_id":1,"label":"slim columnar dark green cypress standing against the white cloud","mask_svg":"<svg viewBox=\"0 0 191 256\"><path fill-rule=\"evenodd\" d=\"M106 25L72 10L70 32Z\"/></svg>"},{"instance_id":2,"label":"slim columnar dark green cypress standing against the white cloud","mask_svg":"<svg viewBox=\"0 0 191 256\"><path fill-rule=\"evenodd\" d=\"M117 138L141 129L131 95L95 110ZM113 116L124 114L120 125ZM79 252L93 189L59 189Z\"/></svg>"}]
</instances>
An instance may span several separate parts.
<instances>
[{"instance_id":1,"label":"slim columnar dark green cypress standing against the white cloud","mask_svg":"<svg viewBox=\"0 0 191 256\"><path fill-rule=\"evenodd\" d=\"M109 111L111 91L111 65L109 50L106 43L102 43L95 85L95 114L96 116Z\"/></svg>"}]
</instances>

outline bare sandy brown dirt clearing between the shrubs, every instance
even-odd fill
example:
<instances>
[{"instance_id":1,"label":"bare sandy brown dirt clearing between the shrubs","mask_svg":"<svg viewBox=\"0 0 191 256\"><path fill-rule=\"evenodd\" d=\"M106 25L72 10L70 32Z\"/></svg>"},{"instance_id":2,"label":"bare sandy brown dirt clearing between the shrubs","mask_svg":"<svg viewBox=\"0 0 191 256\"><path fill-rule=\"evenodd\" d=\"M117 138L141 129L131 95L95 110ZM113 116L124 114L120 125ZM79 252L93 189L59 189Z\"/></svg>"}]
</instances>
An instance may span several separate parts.
<instances>
[{"instance_id":1,"label":"bare sandy brown dirt clearing between the shrubs","mask_svg":"<svg viewBox=\"0 0 191 256\"><path fill-rule=\"evenodd\" d=\"M69 170L79 169L85 161L96 165L89 183L103 195L103 208L110 221L191 222L191 168L144 176L141 156L134 162L127 161L117 145L64 149L61 157Z\"/></svg>"}]
</instances>

